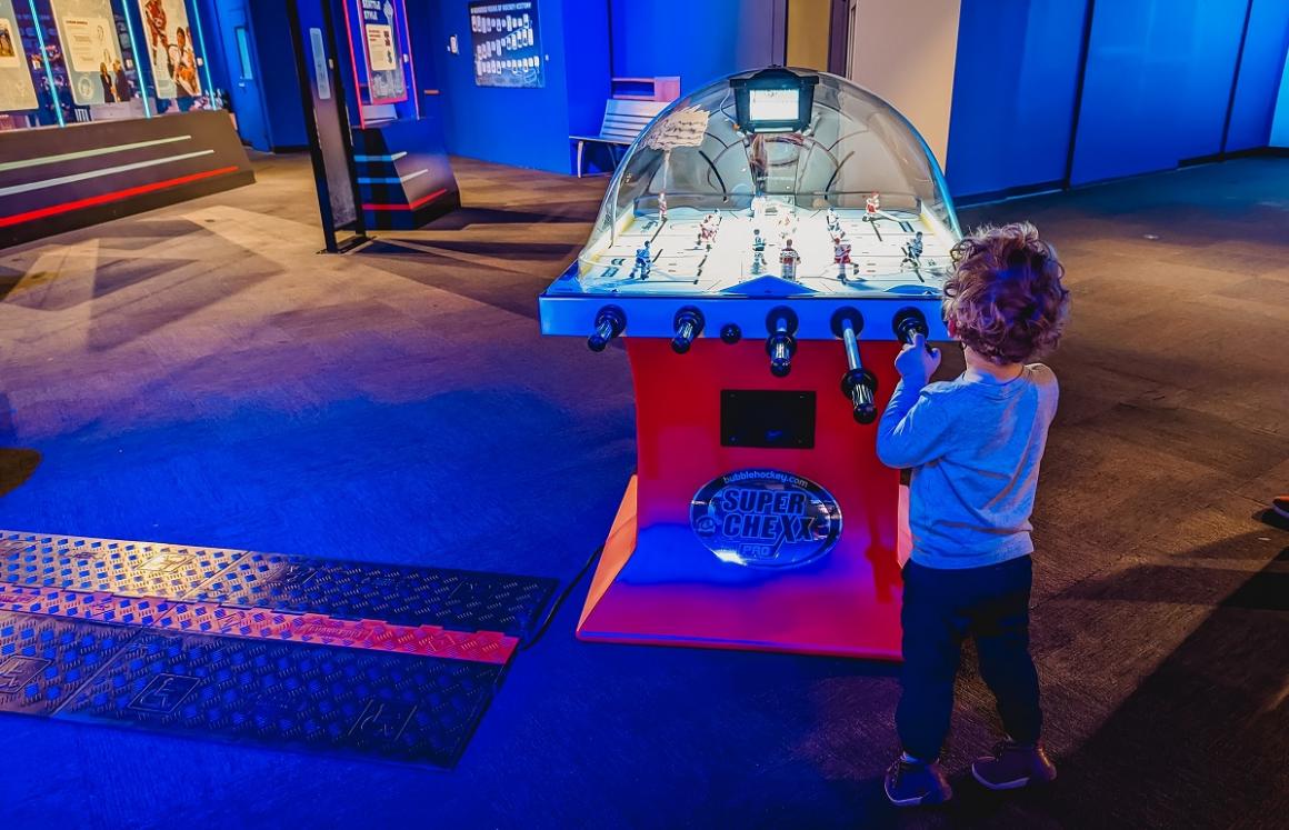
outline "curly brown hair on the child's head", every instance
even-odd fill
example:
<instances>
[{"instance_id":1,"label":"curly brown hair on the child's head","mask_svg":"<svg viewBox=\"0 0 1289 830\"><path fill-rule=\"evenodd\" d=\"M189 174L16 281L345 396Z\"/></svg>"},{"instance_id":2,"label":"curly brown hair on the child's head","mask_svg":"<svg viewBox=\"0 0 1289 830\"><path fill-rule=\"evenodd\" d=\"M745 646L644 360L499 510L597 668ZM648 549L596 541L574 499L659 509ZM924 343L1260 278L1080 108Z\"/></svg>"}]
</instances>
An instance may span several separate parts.
<instances>
[{"instance_id":1,"label":"curly brown hair on the child's head","mask_svg":"<svg viewBox=\"0 0 1289 830\"><path fill-rule=\"evenodd\" d=\"M993 363L1052 352L1070 318L1070 291L1056 250L1029 222L985 226L953 250L945 320L958 339Z\"/></svg>"}]
</instances>

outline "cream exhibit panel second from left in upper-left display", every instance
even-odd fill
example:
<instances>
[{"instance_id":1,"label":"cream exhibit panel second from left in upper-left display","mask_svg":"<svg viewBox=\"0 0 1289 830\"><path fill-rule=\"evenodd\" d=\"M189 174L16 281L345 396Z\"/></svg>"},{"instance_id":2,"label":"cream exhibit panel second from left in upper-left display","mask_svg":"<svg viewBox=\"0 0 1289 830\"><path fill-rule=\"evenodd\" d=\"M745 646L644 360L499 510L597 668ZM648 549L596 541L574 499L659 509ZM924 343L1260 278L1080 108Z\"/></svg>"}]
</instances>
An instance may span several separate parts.
<instances>
[{"instance_id":1,"label":"cream exhibit panel second from left in upper-left display","mask_svg":"<svg viewBox=\"0 0 1289 830\"><path fill-rule=\"evenodd\" d=\"M80 106L116 103L121 48L111 0L50 0L67 62L72 101Z\"/></svg>"}]
</instances>

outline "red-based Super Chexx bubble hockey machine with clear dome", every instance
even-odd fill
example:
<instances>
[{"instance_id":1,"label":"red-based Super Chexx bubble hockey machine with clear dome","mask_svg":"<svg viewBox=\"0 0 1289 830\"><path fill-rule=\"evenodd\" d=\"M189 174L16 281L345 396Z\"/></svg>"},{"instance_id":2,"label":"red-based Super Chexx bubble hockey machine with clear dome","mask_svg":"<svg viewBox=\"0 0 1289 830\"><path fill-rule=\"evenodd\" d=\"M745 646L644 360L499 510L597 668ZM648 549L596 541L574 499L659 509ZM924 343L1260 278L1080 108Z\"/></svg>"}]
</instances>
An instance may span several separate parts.
<instances>
[{"instance_id":1,"label":"red-based Super Chexx bubble hockey machine with clear dome","mask_svg":"<svg viewBox=\"0 0 1289 830\"><path fill-rule=\"evenodd\" d=\"M623 338L637 474L589 641L900 657L900 474L873 421L901 343L945 339L958 220L888 103L808 70L673 103L628 151L541 330Z\"/></svg>"}]
</instances>

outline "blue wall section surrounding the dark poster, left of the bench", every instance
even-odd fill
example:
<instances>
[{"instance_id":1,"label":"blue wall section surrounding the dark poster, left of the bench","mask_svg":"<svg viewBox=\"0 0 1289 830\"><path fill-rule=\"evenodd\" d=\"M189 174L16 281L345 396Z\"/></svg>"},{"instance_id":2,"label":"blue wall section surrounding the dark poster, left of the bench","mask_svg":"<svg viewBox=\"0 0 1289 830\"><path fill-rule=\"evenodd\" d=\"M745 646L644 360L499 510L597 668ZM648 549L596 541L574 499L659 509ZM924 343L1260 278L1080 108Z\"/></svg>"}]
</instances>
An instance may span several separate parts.
<instances>
[{"instance_id":1,"label":"blue wall section surrounding the dark poster, left of the bench","mask_svg":"<svg viewBox=\"0 0 1289 830\"><path fill-rule=\"evenodd\" d=\"M449 152L570 173L568 135L598 133L608 98L607 4L544 0L539 5L539 36L549 57L541 89L474 85L468 6L468 0L440 0L429 9ZM447 52L451 35L459 54Z\"/></svg>"}]
</instances>

